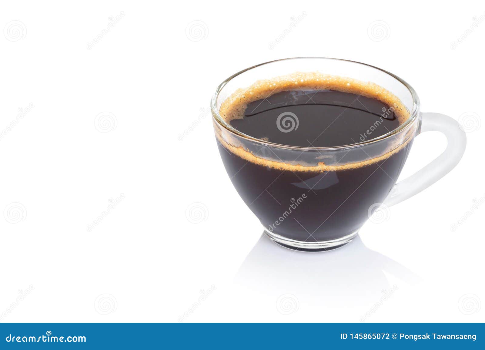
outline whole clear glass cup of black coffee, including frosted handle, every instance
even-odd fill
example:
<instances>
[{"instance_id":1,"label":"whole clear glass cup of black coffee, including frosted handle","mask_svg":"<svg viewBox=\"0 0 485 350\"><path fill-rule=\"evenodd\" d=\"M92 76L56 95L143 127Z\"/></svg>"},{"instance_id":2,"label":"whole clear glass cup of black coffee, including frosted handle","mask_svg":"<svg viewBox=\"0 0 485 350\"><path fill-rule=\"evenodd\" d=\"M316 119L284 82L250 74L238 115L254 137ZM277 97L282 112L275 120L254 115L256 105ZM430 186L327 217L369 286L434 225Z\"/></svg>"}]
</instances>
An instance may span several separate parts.
<instances>
[{"instance_id":1,"label":"whole clear glass cup of black coffee, including frosted handle","mask_svg":"<svg viewBox=\"0 0 485 350\"><path fill-rule=\"evenodd\" d=\"M367 113L364 107L371 112L368 106L377 106L375 101L383 106L380 112L372 111L376 121L365 124L364 119L355 119L362 130L349 142L345 126L349 132L356 129L351 112ZM329 107L328 126L308 128L311 119L299 107L304 104L329 104L342 112ZM271 137L238 130L244 118L258 130L259 115L252 114L254 110L275 116ZM421 113L416 92L404 80L377 67L340 59L290 58L244 69L219 85L211 112L221 158L242 200L273 241L302 251L331 250L350 242L375 210L435 183L459 162L466 147L458 123L442 114ZM389 116L399 123L384 130L378 122L388 123ZM307 145L295 146L292 137L305 138L302 130L313 135L307 138L318 134L320 139L338 140L341 134L342 144L321 147L307 139ZM414 138L426 131L444 133L446 150L396 183Z\"/></svg>"}]
</instances>

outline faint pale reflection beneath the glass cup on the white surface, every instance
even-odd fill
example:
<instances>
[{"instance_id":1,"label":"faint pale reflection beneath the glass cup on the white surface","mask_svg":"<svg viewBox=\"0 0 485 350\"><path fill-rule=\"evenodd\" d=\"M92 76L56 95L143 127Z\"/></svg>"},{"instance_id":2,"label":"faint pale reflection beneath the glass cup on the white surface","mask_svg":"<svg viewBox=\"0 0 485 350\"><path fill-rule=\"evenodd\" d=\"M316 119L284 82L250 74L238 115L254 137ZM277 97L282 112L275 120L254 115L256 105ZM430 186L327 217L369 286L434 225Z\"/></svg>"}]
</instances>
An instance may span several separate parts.
<instances>
[{"instance_id":1,"label":"faint pale reflection beneath the glass cup on the white surface","mask_svg":"<svg viewBox=\"0 0 485 350\"><path fill-rule=\"evenodd\" d=\"M389 282L388 275L400 281L398 285ZM347 316L355 317L356 310L363 315L381 298L391 299L404 285L419 281L414 272L367 248L358 235L328 254L305 254L282 249L263 234L239 268L234 289L256 293L270 303L281 293L290 293L308 305L348 308Z\"/></svg>"}]
</instances>

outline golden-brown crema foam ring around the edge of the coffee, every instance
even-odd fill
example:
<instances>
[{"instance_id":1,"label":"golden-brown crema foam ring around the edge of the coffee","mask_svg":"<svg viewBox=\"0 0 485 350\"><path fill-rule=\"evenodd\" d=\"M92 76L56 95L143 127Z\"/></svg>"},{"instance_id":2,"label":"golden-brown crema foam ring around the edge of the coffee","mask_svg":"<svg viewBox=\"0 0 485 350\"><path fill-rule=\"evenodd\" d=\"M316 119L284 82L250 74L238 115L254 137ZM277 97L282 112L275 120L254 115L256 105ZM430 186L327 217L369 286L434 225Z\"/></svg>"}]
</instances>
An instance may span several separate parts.
<instances>
[{"instance_id":1,"label":"golden-brown crema foam ring around the edge of the coffee","mask_svg":"<svg viewBox=\"0 0 485 350\"><path fill-rule=\"evenodd\" d=\"M296 89L336 90L340 92L352 93L379 100L392 107L400 124L403 124L410 117L410 113L404 106L403 102L396 95L392 94L382 86L372 82L362 82L353 78L334 76L320 72L295 72L293 74L279 76L268 80L259 80L247 88L240 88L234 91L229 97L226 98L226 100L222 102L221 107L219 108L219 115L227 124L229 124L231 120L242 119L244 117L244 112L249 103L266 99L278 92ZM215 120L214 125L216 137L221 145L248 162L281 170L318 172L365 167L367 165L384 160L402 150L407 143L412 140L412 136L416 130L416 128L409 128L405 133L404 139L401 137L395 137L394 140L389 142L387 151L384 154L371 159L339 165L326 165L324 162L318 162L317 165L308 165L293 164L294 162L285 163L284 161L269 160L256 156L241 145L241 141L238 140L240 136L223 131L217 125ZM268 141L265 139L260 140L262 142ZM277 146L273 145L268 145L268 147L277 148ZM312 148L308 148L308 150L312 150ZM325 150L322 152L325 152Z\"/></svg>"}]
</instances>

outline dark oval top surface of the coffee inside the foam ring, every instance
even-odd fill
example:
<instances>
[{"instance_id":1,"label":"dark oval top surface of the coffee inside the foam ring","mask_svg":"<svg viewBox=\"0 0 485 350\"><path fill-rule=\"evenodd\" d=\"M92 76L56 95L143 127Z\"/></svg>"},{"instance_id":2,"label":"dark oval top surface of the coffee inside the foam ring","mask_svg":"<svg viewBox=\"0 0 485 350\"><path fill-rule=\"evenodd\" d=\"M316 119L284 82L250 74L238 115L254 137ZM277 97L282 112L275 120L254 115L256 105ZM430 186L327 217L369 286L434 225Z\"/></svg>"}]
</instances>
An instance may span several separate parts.
<instances>
[{"instance_id":1,"label":"dark oval top surface of the coffee inside the foam ring","mask_svg":"<svg viewBox=\"0 0 485 350\"><path fill-rule=\"evenodd\" d=\"M374 125L372 138L384 135L397 128L399 120L393 108L379 100L339 91L297 90L248 103L244 117L230 124L246 135L281 145L332 147L365 141Z\"/></svg>"}]
</instances>

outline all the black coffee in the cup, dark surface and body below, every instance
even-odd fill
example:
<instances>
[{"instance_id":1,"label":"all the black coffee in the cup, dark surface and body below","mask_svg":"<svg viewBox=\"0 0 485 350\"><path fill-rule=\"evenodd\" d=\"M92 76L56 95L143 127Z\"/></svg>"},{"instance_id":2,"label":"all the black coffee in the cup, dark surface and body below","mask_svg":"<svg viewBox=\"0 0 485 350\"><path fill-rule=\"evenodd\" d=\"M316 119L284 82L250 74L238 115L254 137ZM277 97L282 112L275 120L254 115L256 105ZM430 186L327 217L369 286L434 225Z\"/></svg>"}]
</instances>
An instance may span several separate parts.
<instances>
[{"instance_id":1,"label":"all the black coffee in the cup, dark surface and body below","mask_svg":"<svg viewBox=\"0 0 485 350\"><path fill-rule=\"evenodd\" d=\"M367 141L403 122L395 106L362 95L316 88L279 91L244 104L237 100L245 108L238 107L239 116L231 112L229 123L261 140L311 150ZM411 146L408 142L385 156L377 146L354 148L337 159L337 164L350 165L325 167L329 152L279 150L250 142L244 150L217 140L232 183L266 230L306 242L359 230L369 208L382 202L395 184Z\"/></svg>"}]
</instances>

